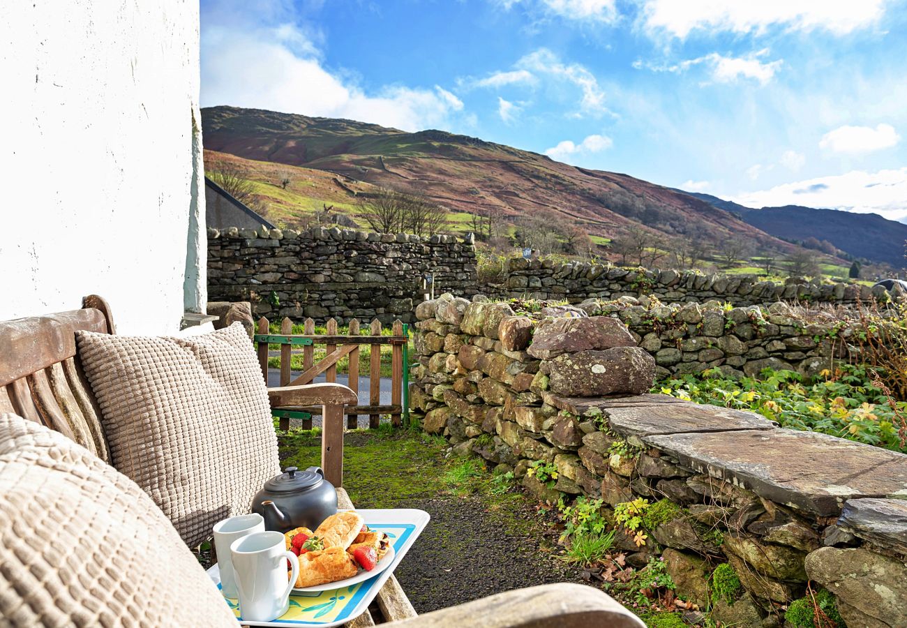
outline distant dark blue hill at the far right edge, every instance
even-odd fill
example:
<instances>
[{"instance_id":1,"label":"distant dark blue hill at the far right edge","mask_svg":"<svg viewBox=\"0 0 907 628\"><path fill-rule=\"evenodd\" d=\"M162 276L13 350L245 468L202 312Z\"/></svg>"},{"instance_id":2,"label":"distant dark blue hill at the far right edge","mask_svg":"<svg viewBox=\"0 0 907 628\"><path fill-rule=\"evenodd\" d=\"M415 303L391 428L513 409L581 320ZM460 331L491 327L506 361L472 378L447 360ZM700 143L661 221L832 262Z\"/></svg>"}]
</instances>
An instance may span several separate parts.
<instances>
[{"instance_id":1,"label":"distant dark blue hill at the far right edge","mask_svg":"<svg viewBox=\"0 0 907 628\"><path fill-rule=\"evenodd\" d=\"M720 209L739 215L754 227L785 240L813 237L828 240L853 257L902 268L907 224L889 221L878 214L824 210L800 205L753 209L709 194L688 192Z\"/></svg>"}]
</instances>

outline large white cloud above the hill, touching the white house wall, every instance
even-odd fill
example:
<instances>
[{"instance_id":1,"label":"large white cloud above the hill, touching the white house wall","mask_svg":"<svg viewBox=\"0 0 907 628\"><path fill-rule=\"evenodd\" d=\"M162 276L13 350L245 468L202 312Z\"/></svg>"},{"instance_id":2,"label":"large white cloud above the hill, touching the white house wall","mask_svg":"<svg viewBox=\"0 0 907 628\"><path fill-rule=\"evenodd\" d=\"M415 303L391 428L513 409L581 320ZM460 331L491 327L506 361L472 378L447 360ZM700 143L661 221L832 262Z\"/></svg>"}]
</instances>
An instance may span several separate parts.
<instances>
[{"instance_id":1,"label":"large white cloud above the hill, touching the white house wall","mask_svg":"<svg viewBox=\"0 0 907 628\"><path fill-rule=\"evenodd\" d=\"M230 104L285 113L351 118L418 131L450 123L463 102L434 89L388 85L375 93L327 70L297 28L212 26L201 39L203 106Z\"/></svg>"}]
</instances>

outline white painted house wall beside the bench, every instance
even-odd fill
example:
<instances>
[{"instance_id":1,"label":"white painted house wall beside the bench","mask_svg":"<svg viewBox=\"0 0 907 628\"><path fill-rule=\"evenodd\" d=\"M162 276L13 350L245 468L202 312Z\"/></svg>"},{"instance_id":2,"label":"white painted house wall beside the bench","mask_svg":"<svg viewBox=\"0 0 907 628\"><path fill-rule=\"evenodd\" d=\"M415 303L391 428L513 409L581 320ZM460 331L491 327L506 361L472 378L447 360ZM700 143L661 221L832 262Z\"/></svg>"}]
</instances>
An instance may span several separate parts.
<instances>
[{"instance_id":1,"label":"white painted house wall beside the bench","mask_svg":"<svg viewBox=\"0 0 907 628\"><path fill-rule=\"evenodd\" d=\"M93 293L178 330L207 300L198 0L5 3L0 42L0 320Z\"/></svg>"}]
</instances>

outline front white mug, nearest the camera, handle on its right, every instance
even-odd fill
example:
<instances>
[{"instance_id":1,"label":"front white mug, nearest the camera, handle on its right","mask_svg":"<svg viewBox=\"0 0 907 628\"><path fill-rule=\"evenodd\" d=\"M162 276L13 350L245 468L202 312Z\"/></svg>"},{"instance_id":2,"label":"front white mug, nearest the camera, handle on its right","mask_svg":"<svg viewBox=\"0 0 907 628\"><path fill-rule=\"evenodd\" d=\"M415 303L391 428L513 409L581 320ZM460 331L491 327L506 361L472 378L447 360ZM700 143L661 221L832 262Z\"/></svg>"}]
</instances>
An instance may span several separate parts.
<instances>
[{"instance_id":1,"label":"front white mug, nearest the camera, handle on its right","mask_svg":"<svg viewBox=\"0 0 907 628\"><path fill-rule=\"evenodd\" d=\"M287 612L289 592L299 575L299 559L287 551L284 535L256 532L229 546L244 622L270 622ZM287 563L292 568L287 582Z\"/></svg>"}]
</instances>

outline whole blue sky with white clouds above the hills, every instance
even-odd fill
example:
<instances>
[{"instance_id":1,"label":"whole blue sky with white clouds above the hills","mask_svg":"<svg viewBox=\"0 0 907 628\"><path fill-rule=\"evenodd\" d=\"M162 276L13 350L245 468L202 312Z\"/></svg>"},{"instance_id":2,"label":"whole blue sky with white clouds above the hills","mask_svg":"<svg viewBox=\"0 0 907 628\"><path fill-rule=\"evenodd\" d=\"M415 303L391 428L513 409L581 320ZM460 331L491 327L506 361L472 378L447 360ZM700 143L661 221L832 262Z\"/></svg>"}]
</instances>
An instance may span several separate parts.
<instances>
[{"instance_id":1,"label":"whole blue sky with white clouds above the hills","mask_svg":"<svg viewBox=\"0 0 907 628\"><path fill-rule=\"evenodd\" d=\"M201 0L201 103L907 219L903 0Z\"/></svg>"}]
</instances>

